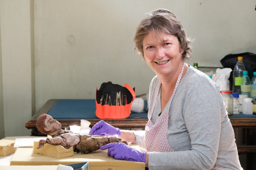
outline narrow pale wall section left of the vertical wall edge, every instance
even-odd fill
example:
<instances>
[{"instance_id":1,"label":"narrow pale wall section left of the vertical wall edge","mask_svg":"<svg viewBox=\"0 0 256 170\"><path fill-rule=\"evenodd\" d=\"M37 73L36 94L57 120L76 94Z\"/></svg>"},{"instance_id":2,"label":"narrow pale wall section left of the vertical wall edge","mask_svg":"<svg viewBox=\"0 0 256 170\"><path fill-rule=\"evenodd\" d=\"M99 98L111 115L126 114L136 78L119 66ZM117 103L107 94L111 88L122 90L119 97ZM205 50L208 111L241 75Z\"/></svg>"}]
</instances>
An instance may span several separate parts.
<instances>
[{"instance_id":1,"label":"narrow pale wall section left of the vertical wall edge","mask_svg":"<svg viewBox=\"0 0 256 170\"><path fill-rule=\"evenodd\" d=\"M4 135L29 135L25 124L32 112L30 0L1 0L0 17Z\"/></svg>"}]
</instances>

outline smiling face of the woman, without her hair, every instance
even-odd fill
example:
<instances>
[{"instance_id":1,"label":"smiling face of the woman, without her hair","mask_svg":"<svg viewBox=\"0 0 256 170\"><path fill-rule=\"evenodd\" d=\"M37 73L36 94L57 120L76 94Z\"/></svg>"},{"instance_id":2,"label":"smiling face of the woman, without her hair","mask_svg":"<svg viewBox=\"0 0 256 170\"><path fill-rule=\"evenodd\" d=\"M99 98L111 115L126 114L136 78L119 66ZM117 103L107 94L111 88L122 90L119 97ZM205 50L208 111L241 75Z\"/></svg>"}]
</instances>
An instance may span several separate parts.
<instances>
[{"instance_id":1,"label":"smiling face of the woman, without her hair","mask_svg":"<svg viewBox=\"0 0 256 170\"><path fill-rule=\"evenodd\" d=\"M155 37L151 31L143 39L145 61L157 75L175 74L184 63L183 51L178 38L164 32Z\"/></svg>"}]
</instances>

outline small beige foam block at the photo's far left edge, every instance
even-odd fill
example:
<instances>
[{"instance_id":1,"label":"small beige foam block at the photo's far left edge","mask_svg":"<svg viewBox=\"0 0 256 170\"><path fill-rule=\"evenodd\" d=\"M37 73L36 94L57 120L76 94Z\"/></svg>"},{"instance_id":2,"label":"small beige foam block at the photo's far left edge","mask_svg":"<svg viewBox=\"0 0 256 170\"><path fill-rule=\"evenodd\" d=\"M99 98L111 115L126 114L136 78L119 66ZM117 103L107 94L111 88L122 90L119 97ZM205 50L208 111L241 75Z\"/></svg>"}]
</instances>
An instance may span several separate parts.
<instances>
[{"instance_id":1,"label":"small beige foam block at the photo's far left edge","mask_svg":"<svg viewBox=\"0 0 256 170\"><path fill-rule=\"evenodd\" d=\"M7 156L16 151L14 148L15 140L1 139L0 140L0 156Z\"/></svg>"}]
</instances>

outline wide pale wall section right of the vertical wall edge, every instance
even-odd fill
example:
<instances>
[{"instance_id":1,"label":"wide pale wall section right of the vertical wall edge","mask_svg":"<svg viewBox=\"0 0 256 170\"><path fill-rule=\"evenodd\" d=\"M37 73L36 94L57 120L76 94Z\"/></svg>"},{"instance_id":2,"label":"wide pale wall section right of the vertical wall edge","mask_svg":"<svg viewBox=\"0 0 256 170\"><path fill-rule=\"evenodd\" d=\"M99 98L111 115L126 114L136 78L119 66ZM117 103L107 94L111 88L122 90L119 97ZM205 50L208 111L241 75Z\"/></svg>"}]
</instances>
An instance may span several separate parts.
<instances>
[{"instance_id":1,"label":"wide pale wall section right of the vertical wall edge","mask_svg":"<svg viewBox=\"0 0 256 170\"><path fill-rule=\"evenodd\" d=\"M133 35L156 8L173 11L195 38L190 64L222 67L227 54L256 53L255 1L61 2L35 1L37 110L53 98L93 99L107 81L148 92L154 73L133 51Z\"/></svg>"}]
</instances>

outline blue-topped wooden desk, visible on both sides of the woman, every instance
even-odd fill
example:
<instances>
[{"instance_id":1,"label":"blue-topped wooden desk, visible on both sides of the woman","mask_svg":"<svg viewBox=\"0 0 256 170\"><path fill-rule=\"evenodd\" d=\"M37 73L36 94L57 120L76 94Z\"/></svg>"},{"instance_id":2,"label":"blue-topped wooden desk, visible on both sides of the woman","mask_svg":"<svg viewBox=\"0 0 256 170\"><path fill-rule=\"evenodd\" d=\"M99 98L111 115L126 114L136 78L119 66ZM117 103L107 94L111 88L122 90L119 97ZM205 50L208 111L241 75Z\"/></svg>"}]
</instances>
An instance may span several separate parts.
<instances>
[{"instance_id":1,"label":"blue-topped wooden desk, visible on both sides of the woman","mask_svg":"<svg viewBox=\"0 0 256 170\"><path fill-rule=\"evenodd\" d=\"M146 104L145 104L146 106ZM89 121L90 128L101 119L97 118L96 101L93 99L50 99L44 106L26 123L27 129L32 129L32 135L40 136L36 129L37 118L41 114L49 114L57 119L63 128L70 125L80 126L81 119ZM242 113L229 116L233 128L256 129L256 115L243 115ZM125 119L103 119L105 122L119 129L144 130L148 121L147 113L131 113ZM248 144L250 145L250 143ZM238 146L238 152L256 152L256 146Z\"/></svg>"}]
</instances>

